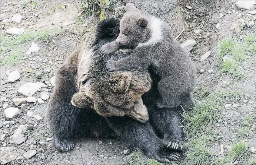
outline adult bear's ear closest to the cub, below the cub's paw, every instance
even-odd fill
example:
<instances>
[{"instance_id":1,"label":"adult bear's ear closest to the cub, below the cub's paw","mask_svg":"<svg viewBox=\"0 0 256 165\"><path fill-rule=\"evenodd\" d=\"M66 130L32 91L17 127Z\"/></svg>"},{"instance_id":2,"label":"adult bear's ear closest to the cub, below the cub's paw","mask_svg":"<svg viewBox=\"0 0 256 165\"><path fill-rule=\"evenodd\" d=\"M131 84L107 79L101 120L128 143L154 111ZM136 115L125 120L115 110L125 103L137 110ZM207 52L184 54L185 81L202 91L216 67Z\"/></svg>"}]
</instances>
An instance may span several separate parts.
<instances>
[{"instance_id":1,"label":"adult bear's ear closest to the cub, below the cub's paw","mask_svg":"<svg viewBox=\"0 0 256 165\"><path fill-rule=\"evenodd\" d=\"M130 87L131 76L123 72L110 72L109 73L109 87L115 93L127 92Z\"/></svg>"}]
</instances>

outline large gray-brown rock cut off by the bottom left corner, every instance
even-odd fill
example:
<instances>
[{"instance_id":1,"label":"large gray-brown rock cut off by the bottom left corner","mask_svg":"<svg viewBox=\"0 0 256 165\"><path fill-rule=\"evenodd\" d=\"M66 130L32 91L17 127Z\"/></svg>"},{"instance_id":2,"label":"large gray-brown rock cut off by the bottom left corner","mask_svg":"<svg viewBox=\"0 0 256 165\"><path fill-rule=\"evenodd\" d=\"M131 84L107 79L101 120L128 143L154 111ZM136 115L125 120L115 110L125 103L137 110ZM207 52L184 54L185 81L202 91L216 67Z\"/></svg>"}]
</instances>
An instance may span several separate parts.
<instances>
[{"instance_id":1,"label":"large gray-brown rock cut off by the bottom left corner","mask_svg":"<svg viewBox=\"0 0 256 165\"><path fill-rule=\"evenodd\" d=\"M0 163L7 164L14 161L18 155L15 147L3 147L1 148Z\"/></svg>"}]
</instances>

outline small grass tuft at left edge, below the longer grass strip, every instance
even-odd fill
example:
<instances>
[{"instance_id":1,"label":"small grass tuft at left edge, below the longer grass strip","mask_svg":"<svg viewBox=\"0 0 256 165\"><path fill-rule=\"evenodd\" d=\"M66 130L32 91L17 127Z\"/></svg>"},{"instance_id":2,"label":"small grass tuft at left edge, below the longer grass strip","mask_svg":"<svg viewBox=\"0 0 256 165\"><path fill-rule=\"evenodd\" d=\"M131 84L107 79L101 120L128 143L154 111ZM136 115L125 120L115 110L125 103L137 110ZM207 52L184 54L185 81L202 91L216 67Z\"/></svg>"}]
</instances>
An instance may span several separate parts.
<instances>
[{"instance_id":1,"label":"small grass tuft at left edge, below the longer grass strip","mask_svg":"<svg viewBox=\"0 0 256 165\"><path fill-rule=\"evenodd\" d=\"M20 51L13 50L9 55L4 56L0 60L0 65L16 65L20 60Z\"/></svg>"}]
</instances>

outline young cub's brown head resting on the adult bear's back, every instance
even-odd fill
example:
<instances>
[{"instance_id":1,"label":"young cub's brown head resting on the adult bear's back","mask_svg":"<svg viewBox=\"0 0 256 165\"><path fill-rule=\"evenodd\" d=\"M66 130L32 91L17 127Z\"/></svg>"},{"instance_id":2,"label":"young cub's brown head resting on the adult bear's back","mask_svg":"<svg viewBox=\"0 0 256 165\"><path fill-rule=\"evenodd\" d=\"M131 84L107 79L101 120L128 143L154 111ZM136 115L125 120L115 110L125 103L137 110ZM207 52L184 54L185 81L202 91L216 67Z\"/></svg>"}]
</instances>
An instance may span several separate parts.
<instances>
[{"instance_id":1,"label":"young cub's brown head resting on the adult bear's back","mask_svg":"<svg viewBox=\"0 0 256 165\"><path fill-rule=\"evenodd\" d=\"M147 42L151 37L149 20L139 11L130 11L124 14L120 21L120 33L116 39L120 45L136 47Z\"/></svg>"}]
</instances>

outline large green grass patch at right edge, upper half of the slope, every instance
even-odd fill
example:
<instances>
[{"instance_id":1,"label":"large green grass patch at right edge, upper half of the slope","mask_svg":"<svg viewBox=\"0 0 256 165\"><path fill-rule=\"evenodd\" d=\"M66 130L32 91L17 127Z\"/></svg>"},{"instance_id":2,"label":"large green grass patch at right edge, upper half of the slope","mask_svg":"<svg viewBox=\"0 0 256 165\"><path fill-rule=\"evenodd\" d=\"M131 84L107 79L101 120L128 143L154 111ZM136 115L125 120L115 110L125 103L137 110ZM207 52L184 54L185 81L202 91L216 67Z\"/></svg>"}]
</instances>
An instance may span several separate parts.
<instances>
[{"instance_id":1,"label":"large green grass patch at right edge, upper half of the slope","mask_svg":"<svg viewBox=\"0 0 256 165\"><path fill-rule=\"evenodd\" d=\"M220 71L226 73L234 80L245 80L246 73L243 73L240 69L242 62L246 62L248 57L256 55L256 36L255 34L247 34L243 42L235 41L233 38L227 38L220 41L219 51L217 52L217 58L220 60ZM223 61L224 56L230 58Z\"/></svg>"}]
</instances>

